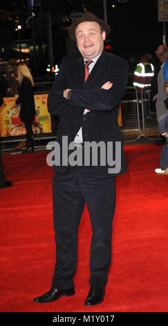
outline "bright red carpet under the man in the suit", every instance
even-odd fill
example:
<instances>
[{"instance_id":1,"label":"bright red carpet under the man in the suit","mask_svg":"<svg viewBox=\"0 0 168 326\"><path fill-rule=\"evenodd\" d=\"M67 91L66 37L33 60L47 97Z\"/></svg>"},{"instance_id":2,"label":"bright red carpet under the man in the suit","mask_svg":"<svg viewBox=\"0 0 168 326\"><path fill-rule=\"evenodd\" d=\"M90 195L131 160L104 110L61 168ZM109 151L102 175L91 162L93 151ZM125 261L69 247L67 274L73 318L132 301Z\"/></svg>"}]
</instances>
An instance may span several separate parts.
<instances>
[{"instance_id":1,"label":"bright red carpet under the man in the suit","mask_svg":"<svg viewBox=\"0 0 168 326\"><path fill-rule=\"evenodd\" d=\"M91 224L84 210L79 230L76 294L50 304L33 298L50 289L55 264L53 169L47 153L3 155L8 180L0 190L0 311L168 311L167 175L156 175L160 146L126 146L128 173L118 177L113 259L105 300L85 307Z\"/></svg>"}]
</instances>

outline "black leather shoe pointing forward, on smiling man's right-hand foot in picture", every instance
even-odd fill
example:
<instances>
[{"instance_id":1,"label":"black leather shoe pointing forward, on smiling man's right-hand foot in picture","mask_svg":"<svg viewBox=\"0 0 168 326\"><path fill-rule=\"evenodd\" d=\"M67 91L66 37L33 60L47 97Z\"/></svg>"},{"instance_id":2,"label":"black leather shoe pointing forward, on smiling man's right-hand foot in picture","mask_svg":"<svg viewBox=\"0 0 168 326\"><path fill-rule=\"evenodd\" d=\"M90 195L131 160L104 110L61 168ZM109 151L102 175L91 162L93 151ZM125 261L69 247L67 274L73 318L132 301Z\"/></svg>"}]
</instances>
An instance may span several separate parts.
<instances>
[{"instance_id":1,"label":"black leather shoe pointing forward, on smiling man's right-hand foot in picture","mask_svg":"<svg viewBox=\"0 0 168 326\"><path fill-rule=\"evenodd\" d=\"M94 306L95 304L100 304L104 300L104 288L100 286L93 285L88 292L88 296L85 301L85 306Z\"/></svg>"}]
</instances>

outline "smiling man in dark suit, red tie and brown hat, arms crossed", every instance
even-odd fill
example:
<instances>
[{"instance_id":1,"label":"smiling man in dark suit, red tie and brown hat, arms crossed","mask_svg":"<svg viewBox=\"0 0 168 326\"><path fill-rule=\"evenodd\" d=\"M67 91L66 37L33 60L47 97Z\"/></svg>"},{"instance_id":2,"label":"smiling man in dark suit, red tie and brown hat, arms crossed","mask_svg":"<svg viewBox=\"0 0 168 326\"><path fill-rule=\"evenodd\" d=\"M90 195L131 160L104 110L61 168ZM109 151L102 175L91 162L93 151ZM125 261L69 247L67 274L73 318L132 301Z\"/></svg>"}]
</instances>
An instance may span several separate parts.
<instances>
[{"instance_id":1,"label":"smiling man in dark suit, red tie and brown hat, arms crossed","mask_svg":"<svg viewBox=\"0 0 168 326\"><path fill-rule=\"evenodd\" d=\"M77 265L77 229L85 203L93 230L91 287L85 305L99 304L104 300L111 263L115 177L127 171L118 111L129 69L126 60L104 52L104 40L109 33L109 24L91 12L86 12L71 24L69 36L77 42L80 53L63 58L48 95L48 111L61 117L57 143L63 154L62 139L65 136L68 138L69 156L75 152L76 157L79 151L85 154L85 144L88 142L100 144L103 141L107 145L109 141L110 144L120 145L120 162L118 160L116 169L109 173L109 161L101 164L101 155L97 151L95 165L91 161L84 164L84 157L83 165L73 166L69 163L54 166L53 214L57 259L52 287L46 294L34 299L38 303L75 294L73 275ZM106 154L103 159L106 159Z\"/></svg>"}]
</instances>

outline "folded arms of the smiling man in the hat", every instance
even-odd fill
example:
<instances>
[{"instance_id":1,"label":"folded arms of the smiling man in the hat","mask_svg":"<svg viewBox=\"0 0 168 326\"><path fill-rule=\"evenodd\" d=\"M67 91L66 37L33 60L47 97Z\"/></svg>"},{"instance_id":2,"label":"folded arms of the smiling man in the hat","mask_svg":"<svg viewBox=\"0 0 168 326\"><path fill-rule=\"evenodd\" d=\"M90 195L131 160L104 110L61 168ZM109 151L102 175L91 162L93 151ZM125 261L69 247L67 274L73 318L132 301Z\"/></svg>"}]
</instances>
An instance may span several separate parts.
<instances>
[{"instance_id":1,"label":"folded arms of the smiling man in the hat","mask_svg":"<svg viewBox=\"0 0 168 326\"><path fill-rule=\"evenodd\" d=\"M112 65L111 65L112 66ZM59 117L80 117L85 108L91 110L110 111L115 108L124 95L127 86L128 65L125 60L115 69L109 69L109 81L100 88L72 89L71 98L67 100L70 88L68 86L66 59L62 61L59 74L55 78L50 94L48 95L48 112ZM112 87L113 85L113 87Z\"/></svg>"}]
</instances>

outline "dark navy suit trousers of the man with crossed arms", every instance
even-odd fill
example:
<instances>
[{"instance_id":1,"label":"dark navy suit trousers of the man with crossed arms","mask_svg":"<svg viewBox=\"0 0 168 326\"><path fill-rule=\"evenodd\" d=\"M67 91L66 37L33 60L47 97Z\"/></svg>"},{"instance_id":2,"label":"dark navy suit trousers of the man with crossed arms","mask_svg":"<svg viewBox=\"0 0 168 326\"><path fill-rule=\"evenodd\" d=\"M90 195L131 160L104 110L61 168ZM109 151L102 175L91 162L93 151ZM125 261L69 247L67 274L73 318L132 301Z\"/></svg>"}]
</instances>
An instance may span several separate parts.
<instances>
[{"instance_id":1,"label":"dark navy suit trousers of the man with crossed arms","mask_svg":"<svg viewBox=\"0 0 168 326\"><path fill-rule=\"evenodd\" d=\"M94 178L89 166L69 166L53 175L56 264L53 288L71 289L77 266L77 233L85 203L91 219L90 285L104 287L111 263L116 177Z\"/></svg>"}]
</instances>

